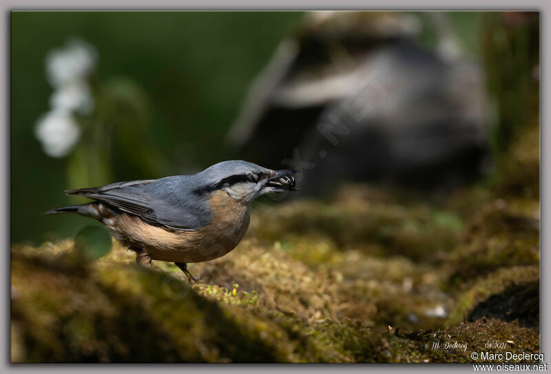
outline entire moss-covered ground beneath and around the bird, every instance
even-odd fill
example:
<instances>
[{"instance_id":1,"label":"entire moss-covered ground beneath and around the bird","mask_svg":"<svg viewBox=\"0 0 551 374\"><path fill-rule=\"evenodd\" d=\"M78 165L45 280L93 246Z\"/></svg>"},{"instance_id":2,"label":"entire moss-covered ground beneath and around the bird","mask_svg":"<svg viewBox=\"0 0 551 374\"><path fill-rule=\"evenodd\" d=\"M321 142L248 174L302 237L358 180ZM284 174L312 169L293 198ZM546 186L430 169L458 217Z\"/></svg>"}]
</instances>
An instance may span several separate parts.
<instances>
[{"instance_id":1,"label":"entire moss-covered ground beneath and around the bird","mask_svg":"<svg viewBox=\"0 0 551 374\"><path fill-rule=\"evenodd\" d=\"M119 245L94 262L72 240L14 245L12 361L470 362L496 342L537 353L534 144L527 131L505 173L446 199L355 185L256 209L236 250L189 265L191 286Z\"/></svg>"}]
</instances>

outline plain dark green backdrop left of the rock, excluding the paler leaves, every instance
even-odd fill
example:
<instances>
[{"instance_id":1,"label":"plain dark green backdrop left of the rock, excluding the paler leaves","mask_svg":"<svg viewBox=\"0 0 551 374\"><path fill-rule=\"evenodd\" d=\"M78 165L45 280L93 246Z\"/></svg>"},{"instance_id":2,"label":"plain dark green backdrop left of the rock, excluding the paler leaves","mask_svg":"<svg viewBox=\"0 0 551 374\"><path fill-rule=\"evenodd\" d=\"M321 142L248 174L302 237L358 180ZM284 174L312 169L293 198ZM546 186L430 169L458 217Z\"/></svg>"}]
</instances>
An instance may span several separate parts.
<instances>
[{"instance_id":1,"label":"plain dark green backdrop left of the rock, excluding the paler leaves","mask_svg":"<svg viewBox=\"0 0 551 374\"><path fill-rule=\"evenodd\" d=\"M54 239L49 232L72 236L88 224L41 216L67 204L63 190L81 187L67 185L68 157L48 157L34 137L52 94L45 76L50 50L79 36L98 52L98 81L123 77L141 89L162 170L119 164L112 177L147 179L196 171L225 156L221 140L247 85L298 19L296 12L12 12L12 242Z\"/></svg>"}]
</instances>

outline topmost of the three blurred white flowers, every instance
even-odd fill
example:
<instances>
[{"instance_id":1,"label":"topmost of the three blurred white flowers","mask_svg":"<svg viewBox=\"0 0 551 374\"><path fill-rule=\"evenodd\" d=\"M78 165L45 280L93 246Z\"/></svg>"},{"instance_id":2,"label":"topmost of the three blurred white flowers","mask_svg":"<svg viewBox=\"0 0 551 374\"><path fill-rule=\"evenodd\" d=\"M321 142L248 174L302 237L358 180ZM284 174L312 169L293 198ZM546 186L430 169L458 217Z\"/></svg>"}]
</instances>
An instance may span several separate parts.
<instances>
[{"instance_id":1,"label":"topmost of the three blurred white flowers","mask_svg":"<svg viewBox=\"0 0 551 374\"><path fill-rule=\"evenodd\" d=\"M92 72L96 59L97 52L92 45L81 39L71 39L65 47L46 56L48 80L54 87L82 80Z\"/></svg>"}]
</instances>

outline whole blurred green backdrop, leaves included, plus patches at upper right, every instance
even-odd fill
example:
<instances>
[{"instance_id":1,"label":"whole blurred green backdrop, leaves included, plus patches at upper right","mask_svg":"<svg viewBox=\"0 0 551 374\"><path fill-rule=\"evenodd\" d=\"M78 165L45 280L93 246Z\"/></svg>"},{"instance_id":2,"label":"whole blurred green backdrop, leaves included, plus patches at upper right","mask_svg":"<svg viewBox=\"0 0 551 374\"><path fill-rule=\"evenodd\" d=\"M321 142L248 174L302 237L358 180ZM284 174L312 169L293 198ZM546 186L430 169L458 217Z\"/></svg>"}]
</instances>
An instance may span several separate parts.
<instances>
[{"instance_id":1,"label":"whole blurred green backdrop, leaves included, plus patches at upper right","mask_svg":"<svg viewBox=\"0 0 551 374\"><path fill-rule=\"evenodd\" d=\"M69 215L41 216L78 202L65 197L65 189L194 173L233 157L222 147L222 139L247 87L302 16L300 12L12 12L12 243L73 236L92 223ZM434 47L436 36L427 15L417 12L417 16L422 25L419 43ZM481 25L488 15L450 12L446 17L462 52L472 61L483 61ZM101 122L114 135L109 144L89 142L87 149L79 144L69 156L52 158L34 136L53 91L46 80L45 56L74 36L98 52L92 77L94 100L98 112L110 113L87 126L101 128L97 124ZM85 132L82 139L89 136Z\"/></svg>"}]
</instances>

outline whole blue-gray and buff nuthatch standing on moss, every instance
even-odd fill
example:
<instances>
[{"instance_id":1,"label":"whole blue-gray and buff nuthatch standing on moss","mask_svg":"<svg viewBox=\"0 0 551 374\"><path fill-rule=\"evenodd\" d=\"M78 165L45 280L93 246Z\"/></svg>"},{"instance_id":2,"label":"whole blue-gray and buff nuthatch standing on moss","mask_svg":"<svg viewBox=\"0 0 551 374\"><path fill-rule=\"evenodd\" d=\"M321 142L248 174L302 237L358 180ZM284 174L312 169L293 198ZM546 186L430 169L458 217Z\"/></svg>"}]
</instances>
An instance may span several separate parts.
<instances>
[{"instance_id":1,"label":"whole blue-gray and buff nuthatch standing on moss","mask_svg":"<svg viewBox=\"0 0 551 374\"><path fill-rule=\"evenodd\" d=\"M44 214L94 218L136 253L139 265L174 262L194 283L187 264L214 260L236 248L249 228L252 201L267 193L299 190L293 177L298 172L229 160L194 175L65 190L92 201Z\"/></svg>"}]
</instances>

